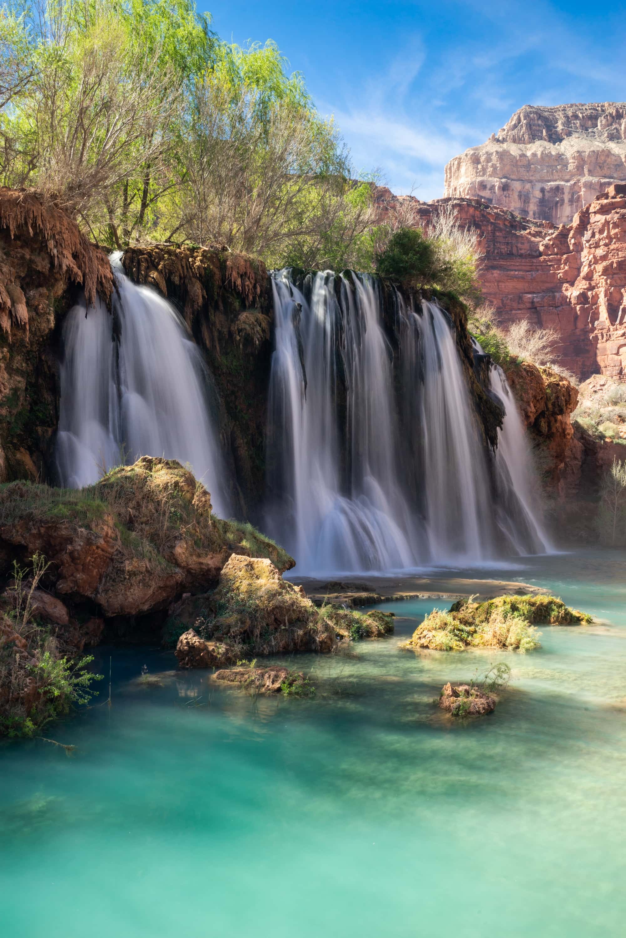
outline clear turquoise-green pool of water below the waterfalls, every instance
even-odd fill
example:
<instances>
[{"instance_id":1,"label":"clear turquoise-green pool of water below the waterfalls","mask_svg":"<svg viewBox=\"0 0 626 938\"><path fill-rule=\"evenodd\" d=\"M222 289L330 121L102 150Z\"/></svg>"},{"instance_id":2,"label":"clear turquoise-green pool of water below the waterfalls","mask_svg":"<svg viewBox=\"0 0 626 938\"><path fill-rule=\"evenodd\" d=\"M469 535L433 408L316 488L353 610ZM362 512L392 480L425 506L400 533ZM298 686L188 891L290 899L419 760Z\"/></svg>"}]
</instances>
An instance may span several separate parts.
<instances>
[{"instance_id":1,"label":"clear turquoise-green pool of water below the waterfalls","mask_svg":"<svg viewBox=\"0 0 626 938\"><path fill-rule=\"evenodd\" d=\"M543 628L526 657L417 657L397 649L416 625L401 619L353 657L300 656L313 701L254 706L201 672L139 687L142 664L167 671L173 657L114 649L113 706L46 730L73 758L39 741L0 747L1 933L623 935L625 561L494 574L609 625ZM512 687L490 717L453 723L433 705L445 681L502 658Z\"/></svg>"}]
</instances>

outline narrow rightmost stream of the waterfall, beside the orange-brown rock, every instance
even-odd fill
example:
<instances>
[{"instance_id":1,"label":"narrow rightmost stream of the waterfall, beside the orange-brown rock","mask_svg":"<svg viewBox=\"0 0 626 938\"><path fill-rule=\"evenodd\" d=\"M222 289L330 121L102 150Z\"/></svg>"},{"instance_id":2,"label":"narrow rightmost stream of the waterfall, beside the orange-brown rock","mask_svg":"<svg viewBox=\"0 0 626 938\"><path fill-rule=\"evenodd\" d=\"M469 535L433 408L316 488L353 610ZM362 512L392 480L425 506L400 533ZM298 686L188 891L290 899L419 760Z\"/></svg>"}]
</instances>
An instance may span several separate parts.
<instances>
[{"instance_id":1,"label":"narrow rightmost stream of the waterfall, beside the orange-brown rock","mask_svg":"<svg viewBox=\"0 0 626 938\"><path fill-rule=\"evenodd\" d=\"M491 389L502 401L505 411L496 449L498 525L515 552L550 552L552 545L537 505L538 480L530 460L522 417L506 375L497 365L492 366L490 380Z\"/></svg>"}]
</instances>

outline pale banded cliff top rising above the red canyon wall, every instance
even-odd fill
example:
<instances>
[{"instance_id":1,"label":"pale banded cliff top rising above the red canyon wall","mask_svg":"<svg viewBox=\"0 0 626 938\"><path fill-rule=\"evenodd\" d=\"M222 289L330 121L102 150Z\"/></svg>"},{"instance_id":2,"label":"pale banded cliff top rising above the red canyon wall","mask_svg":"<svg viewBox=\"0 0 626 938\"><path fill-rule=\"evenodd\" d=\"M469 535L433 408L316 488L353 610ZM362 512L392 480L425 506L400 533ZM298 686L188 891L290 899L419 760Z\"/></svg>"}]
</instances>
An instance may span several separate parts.
<instances>
[{"instance_id":1,"label":"pale banded cliff top rising above the red canyon wall","mask_svg":"<svg viewBox=\"0 0 626 938\"><path fill-rule=\"evenodd\" d=\"M486 144L450 159L445 195L558 225L624 181L626 103L525 105Z\"/></svg>"}]
</instances>

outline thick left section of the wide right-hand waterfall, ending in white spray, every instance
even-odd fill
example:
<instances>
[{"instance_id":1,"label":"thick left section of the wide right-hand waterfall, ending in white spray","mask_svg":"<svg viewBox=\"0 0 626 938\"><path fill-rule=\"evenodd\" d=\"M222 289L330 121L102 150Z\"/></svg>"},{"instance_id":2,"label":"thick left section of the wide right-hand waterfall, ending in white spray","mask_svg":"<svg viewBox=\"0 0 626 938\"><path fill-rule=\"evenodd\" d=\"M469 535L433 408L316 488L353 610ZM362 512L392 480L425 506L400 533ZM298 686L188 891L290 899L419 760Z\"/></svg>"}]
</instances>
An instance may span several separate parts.
<instances>
[{"instance_id":1,"label":"thick left section of the wide right-hand waterfall, ending in white spray","mask_svg":"<svg viewBox=\"0 0 626 938\"><path fill-rule=\"evenodd\" d=\"M317 274L310 302L286 272L272 284L267 452L277 498L267 524L300 567L409 567L411 513L397 483L390 351L374 280Z\"/></svg>"}]
</instances>

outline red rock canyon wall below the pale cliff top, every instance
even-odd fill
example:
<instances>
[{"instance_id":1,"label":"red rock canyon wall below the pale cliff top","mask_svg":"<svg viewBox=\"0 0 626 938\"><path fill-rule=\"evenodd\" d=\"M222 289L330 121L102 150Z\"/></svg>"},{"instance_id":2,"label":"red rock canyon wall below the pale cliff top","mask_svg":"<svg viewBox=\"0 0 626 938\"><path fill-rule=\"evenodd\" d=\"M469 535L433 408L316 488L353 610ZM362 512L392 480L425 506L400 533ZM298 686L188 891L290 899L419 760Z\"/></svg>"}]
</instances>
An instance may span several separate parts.
<instances>
[{"instance_id":1,"label":"red rock canyon wall below the pale cliff top","mask_svg":"<svg viewBox=\"0 0 626 938\"><path fill-rule=\"evenodd\" d=\"M381 218L409 198L380 189ZM426 231L451 205L476 232L482 294L504 327L527 319L554 328L559 365L583 380L626 376L626 184L610 186L558 227L477 199L411 201Z\"/></svg>"}]
</instances>

